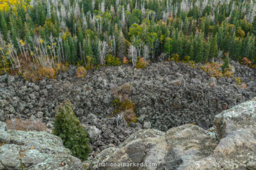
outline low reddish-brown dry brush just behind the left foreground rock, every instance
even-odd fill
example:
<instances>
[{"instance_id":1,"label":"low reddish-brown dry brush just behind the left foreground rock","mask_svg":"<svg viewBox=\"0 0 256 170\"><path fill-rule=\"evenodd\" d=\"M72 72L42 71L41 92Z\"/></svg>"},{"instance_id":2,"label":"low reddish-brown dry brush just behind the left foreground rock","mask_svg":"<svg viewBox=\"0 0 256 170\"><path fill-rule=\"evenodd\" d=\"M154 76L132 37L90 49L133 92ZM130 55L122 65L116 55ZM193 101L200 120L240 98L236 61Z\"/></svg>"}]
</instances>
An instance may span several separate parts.
<instances>
[{"instance_id":1,"label":"low reddish-brown dry brush just behind the left foreground rock","mask_svg":"<svg viewBox=\"0 0 256 170\"><path fill-rule=\"evenodd\" d=\"M12 118L6 121L7 128L17 131L49 131L47 126L41 120L21 120L19 118Z\"/></svg>"}]
</instances>

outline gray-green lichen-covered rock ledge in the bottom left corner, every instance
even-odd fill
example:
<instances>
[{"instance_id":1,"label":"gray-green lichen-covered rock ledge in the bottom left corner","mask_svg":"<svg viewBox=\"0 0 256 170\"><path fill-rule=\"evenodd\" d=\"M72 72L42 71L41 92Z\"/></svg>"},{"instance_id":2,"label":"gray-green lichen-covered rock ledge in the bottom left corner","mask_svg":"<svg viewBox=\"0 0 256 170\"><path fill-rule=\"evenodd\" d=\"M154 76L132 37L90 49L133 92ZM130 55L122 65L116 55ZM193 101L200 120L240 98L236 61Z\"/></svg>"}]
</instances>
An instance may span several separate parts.
<instances>
[{"instance_id":1,"label":"gray-green lichen-covered rock ledge in the bottom left corner","mask_svg":"<svg viewBox=\"0 0 256 170\"><path fill-rule=\"evenodd\" d=\"M0 169L84 169L61 139L47 132L8 131L0 122Z\"/></svg>"}]
</instances>

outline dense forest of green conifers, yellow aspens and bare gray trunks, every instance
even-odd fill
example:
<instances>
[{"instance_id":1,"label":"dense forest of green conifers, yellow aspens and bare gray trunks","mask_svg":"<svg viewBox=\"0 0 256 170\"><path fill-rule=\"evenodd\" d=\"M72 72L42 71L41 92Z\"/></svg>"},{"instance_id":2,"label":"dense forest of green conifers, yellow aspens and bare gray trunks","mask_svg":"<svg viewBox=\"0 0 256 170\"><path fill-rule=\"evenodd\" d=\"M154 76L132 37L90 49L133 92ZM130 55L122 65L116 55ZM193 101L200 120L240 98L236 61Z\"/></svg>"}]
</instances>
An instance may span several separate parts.
<instances>
[{"instance_id":1,"label":"dense forest of green conifers, yellow aspens and bare gray trunks","mask_svg":"<svg viewBox=\"0 0 256 170\"><path fill-rule=\"evenodd\" d=\"M0 0L0 72L107 57L209 62L220 52L255 64L255 9L238 0Z\"/></svg>"}]
</instances>

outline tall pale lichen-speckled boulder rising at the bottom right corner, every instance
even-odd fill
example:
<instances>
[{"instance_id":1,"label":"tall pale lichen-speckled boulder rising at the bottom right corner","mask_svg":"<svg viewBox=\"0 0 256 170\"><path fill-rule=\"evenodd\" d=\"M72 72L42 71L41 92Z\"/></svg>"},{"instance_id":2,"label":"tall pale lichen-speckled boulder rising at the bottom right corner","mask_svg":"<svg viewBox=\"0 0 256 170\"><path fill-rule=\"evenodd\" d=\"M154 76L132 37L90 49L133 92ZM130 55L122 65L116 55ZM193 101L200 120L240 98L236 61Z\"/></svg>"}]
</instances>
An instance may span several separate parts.
<instances>
[{"instance_id":1,"label":"tall pale lichen-speckled boulder rising at the bottom right corner","mask_svg":"<svg viewBox=\"0 0 256 170\"><path fill-rule=\"evenodd\" d=\"M190 169L256 169L256 98L216 115L220 143L209 157L191 162Z\"/></svg>"}]
</instances>

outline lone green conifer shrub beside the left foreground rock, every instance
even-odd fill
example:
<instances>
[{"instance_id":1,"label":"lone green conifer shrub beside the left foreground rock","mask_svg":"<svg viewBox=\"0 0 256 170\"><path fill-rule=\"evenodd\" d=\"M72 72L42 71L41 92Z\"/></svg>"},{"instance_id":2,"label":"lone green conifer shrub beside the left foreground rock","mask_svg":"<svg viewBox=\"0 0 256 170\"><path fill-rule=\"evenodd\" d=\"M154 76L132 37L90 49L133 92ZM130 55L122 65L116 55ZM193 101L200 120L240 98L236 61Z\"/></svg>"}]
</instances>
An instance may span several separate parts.
<instances>
[{"instance_id":1,"label":"lone green conifer shrub beside the left foreground rock","mask_svg":"<svg viewBox=\"0 0 256 170\"><path fill-rule=\"evenodd\" d=\"M68 101L60 104L56 110L53 134L62 139L63 145L70 149L72 155L81 160L87 159L88 153L92 150L88 145L90 139L87 138L84 127L80 125L72 110L72 104Z\"/></svg>"}]
</instances>

